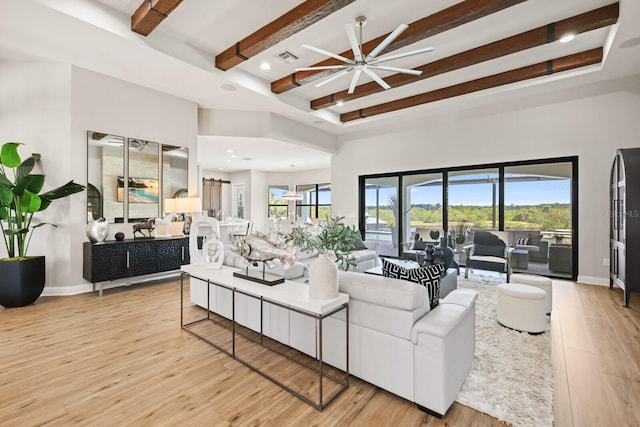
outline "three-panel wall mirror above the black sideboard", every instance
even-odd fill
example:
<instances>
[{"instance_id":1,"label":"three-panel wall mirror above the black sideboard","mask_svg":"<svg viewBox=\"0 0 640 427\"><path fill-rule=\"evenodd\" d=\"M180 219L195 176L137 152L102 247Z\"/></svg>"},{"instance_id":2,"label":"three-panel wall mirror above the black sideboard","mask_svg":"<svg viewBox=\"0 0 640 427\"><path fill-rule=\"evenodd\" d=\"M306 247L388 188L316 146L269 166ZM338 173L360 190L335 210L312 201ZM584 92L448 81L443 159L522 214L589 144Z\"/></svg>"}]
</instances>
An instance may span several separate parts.
<instances>
[{"instance_id":1,"label":"three-panel wall mirror above the black sideboard","mask_svg":"<svg viewBox=\"0 0 640 427\"><path fill-rule=\"evenodd\" d=\"M87 157L87 221L163 217L164 199L187 195L185 147L89 131Z\"/></svg>"}]
</instances>

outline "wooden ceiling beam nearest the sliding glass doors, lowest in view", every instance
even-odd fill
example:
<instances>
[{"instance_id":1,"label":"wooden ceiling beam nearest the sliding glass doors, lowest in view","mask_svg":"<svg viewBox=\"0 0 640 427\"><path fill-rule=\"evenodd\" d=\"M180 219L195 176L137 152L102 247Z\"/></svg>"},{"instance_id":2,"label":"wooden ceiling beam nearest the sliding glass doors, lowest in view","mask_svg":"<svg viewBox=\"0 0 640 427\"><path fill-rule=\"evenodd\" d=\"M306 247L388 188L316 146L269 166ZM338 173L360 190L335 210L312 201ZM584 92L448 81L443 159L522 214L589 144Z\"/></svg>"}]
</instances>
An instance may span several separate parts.
<instances>
[{"instance_id":1,"label":"wooden ceiling beam nearest the sliding glass doors, lowest in view","mask_svg":"<svg viewBox=\"0 0 640 427\"><path fill-rule=\"evenodd\" d=\"M536 77L543 77L553 73L573 70L587 65L598 64L603 58L602 47L591 49L588 51L568 55L561 58L551 59L549 61L539 62L515 70L505 71L503 73L494 74L492 76L483 77L465 83L421 93L419 95L398 99L384 104L374 105L372 107L362 108L360 110L350 111L340 115L342 122L363 119L378 114L389 113L391 111L402 110L417 105L428 104L430 102L441 101L443 99L453 98L456 96L466 95L485 89L491 89L506 84L517 83Z\"/></svg>"}]
</instances>

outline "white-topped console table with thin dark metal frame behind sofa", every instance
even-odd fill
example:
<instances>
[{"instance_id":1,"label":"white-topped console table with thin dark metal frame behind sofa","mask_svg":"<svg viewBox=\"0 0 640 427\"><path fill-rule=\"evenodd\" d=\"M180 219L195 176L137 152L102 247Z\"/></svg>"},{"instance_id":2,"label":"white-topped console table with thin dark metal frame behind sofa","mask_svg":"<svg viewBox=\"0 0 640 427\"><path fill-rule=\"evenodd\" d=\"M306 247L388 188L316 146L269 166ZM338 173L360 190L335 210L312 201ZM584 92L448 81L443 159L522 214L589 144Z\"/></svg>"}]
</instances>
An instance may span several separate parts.
<instances>
[{"instance_id":1,"label":"white-topped console table with thin dark metal frame behind sofa","mask_svg":"<svg viewBox=\"0 0 640 427\"><path fill-rule=\"evenodd\" d=\"M208 269L205 266L199 265L183 265L181 267L182 277L180 281L180 289L181 289L181 299L180 299L180 324L182 328L188 331L189 333L195 335L196 337L204 340L211 346L216 349L222 351L233 359L239 361L243 365L249 367L253 371L259 373L263 377L269 379L275 384L279 385L283 389L287 390L294 396L302 399L307 402L311 406L316 409L323 410L327 407L331 402L333 402L344 390L349 387L349 295L347 294L339 294L337 298L334 299L316 299L311 298L309 296L309 287L306 284L293 282L286 280L284 283L275 286L267 286L259 283L255 283L246 279L242 279L239 277L233 276L234 271L238 271L235 268L231 268L228 266L223 266L219 270ZM185 277L189 277L190 279L195 279L196 281L200 280L206 283L206 293L207 293L207 303L206 303L206 317L202 317L193 321L189 321L185 323L184 313L185 313L185 305L184 305L184 286L185 286ZM190 283L190 286L192 283ZM204 336L198 331L197 326L202 324L203 322L214 322L217 323L216 320L211 316L211 313L215 310L210 307L211 301L215 299L215 295L217 293L212 292L212 288L223 288L227 291L231 292L231 302L230 302L230 310L227 310L229 315L224 315L223 317L229 318L231 320L231 351L225 349L220 343L213 342L209 337ZM251 328L255 329L260 335L259 340L253 341L255 344L259 344L264 348L267 348L271 351L274 351L281 356L288 358L289 360L296 362L306 369L310 369L313 372L318 374L318 400L312 400L301 392L292 389L291 387L285 385L283 382L274 378L273 376L261 371L258 367L249 363L247 360L239 357L236 354L236 335L239 333L238 329L240 329L239 325L241 323L238 322L237 319L237 309L236 303L238 301L238 296L248 297L251 299L255 299L259 301L260 305L260 321L259 327ZM219 302L217 302L219 303ZM314 341L316 342L317 348L315 349L316 357L313 358L315 363L306 364L302 363L300 360L291 358L286 354L279 352L278 350L263 345L263 307L264 304L268 303L270 305L274 305L277 307L284 308L291 312L299 313L303 316L315 319L317 329L316 329L316 337ZM216 302L214 301L215 305ZM346 336L346 351L345 351L345 370L338 370L344 374L344 378L338 378L335 375L329 374L327 367L324 365L322 358L322 321L323 319L330 317L340 311L344 310L346 316L345 322L345 336ZM248 338L244 336L244 338ZM335 368L332 368L335 369ZM283 373L283 375L286 375ZM342 377L342 375L340 375ZM323 393L323 381L330 380L339 385L337 391L335 391L332 395L325 397Z\"/></svg>"}]
</instances>

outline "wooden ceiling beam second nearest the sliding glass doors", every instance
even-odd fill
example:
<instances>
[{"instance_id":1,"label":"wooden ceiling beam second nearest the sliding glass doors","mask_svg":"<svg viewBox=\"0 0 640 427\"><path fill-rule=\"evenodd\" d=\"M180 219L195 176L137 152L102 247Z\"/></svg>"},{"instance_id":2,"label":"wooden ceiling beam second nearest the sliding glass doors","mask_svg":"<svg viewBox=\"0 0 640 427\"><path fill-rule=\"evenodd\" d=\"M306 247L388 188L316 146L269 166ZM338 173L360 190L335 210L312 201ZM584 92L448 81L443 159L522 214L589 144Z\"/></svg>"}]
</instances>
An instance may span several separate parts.
<instances>
[{"instance_id":1,"label":"wooden ceiling beam second nearest the sliding glass doors","mask_svg":"<svg viewBox=\"0 0 640 427\"><path fill-rule=\"evenodd\" d=\"M597 28L607 27L615 24L618 21L619 15L620 4L613 3L590 12L550 23L543 27L507 37L494 43L489 43L447 58L439 59L429 64L415 67L414 69L422 71L422 74L419 76L398 73L385 77L384 80L392 88L414 83L439 74L476 65L536 46L542 46L546 43L552 43L567 33L580 34ZM347 93L347 90L343 90L314 99L311 101L311 108L313 110L319 110L335 105L339 101L347 102L383 91L384 89L378 83L369 82L357 86L351 95Z\"/></svg>"}]
</instances>

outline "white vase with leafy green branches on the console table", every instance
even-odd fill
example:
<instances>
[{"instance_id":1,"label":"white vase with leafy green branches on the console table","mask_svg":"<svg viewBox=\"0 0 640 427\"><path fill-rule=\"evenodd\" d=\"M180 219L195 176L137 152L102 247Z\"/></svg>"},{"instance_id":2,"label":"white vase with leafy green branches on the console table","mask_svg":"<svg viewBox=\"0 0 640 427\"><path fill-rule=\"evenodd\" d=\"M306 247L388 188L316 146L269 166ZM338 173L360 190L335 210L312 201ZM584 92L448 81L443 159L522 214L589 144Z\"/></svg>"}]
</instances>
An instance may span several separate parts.
<instances>
[{"instance_id":1,"label":"white vase with leafy green branches on the console table","mask_svg":"<svg viewBox=\"0 0 640 427\"><path fill-rule=\"evenodd\" d=\"M351 249L361 238L355 227L348 227L344 217L327 218L327 224L313 234L303 227L293 227L287 236L294 246L303 250L317 250L318 258L309 266L309 294L314 298L335 298L338 296L337 263L348 270L356 262L351 257ZM327 255L335 255L335 262Z\"/></svg>"}]
</instances>

